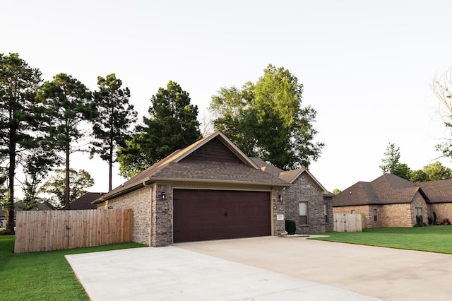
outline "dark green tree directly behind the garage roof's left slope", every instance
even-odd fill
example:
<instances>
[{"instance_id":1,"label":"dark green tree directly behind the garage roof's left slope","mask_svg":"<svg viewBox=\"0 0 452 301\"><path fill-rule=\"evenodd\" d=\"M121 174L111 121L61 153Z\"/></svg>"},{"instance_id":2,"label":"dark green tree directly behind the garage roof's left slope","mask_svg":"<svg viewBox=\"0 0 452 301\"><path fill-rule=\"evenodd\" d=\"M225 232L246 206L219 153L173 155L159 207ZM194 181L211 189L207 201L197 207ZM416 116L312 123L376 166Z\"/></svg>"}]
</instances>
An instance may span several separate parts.
<instances>
[{"instance_id":1,"label":"dark green tree directly behind the garage roof's left slope","mask_svg":"<svg viewBox=\"0 0 452 301\"><path fill-rule=\"evenodd\" d=\"M150 117L118 148L121 175L133 177L170 153L185 148L201 138L197 120L198 107L191 105L189 93L169 81L150 99Z\"/></svg>"}]
</instances>

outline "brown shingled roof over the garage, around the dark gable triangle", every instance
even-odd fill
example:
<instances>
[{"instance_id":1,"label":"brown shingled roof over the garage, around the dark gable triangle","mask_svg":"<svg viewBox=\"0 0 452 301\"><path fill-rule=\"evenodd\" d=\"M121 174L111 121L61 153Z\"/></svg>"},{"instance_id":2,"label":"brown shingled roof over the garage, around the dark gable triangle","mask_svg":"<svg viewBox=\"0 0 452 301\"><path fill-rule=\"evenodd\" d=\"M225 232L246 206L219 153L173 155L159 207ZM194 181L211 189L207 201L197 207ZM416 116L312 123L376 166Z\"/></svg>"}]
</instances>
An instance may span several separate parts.
<instances>
[{"instance_id":1,"label":"brown shingled roof over the garage, around the dark gable triangle","mask_svg":"<svg viewBox=\"0 0 452 301\"><path fill-rule=\"evenodd\" d=\"M209 160L184 160L184 158L191 153L194 153L196 150L216 138L237 156L239 159L237 162L239 163L225 163ZM156 181L265 184L279 187L290 186L290 184L287 184L283 179L279 179L278 177L274 177L273 175L260 170L250 158L240 151L239 148L225 136L225 134L222 134L221 131L216 131L210 136L206 136L196 143L191 144L191 146L168 155L147 170L144 170L127 182L124 182L120 187L113 189L108 194L100 196L100 198L93 203L101 203L112 197L124 194L127 191L138 189L143 184L151 184Z\"/></svg>"}]
</instances>

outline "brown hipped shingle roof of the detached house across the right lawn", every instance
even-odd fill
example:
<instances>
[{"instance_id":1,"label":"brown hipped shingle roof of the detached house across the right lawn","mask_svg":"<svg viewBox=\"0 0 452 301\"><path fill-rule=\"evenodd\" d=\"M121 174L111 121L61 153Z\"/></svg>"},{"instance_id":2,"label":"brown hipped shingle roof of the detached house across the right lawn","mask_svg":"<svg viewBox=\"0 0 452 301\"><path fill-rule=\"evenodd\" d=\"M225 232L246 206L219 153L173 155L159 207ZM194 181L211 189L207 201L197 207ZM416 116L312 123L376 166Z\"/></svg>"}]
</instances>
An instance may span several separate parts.
<instances>
[{"instance_id":1,"label":"brown hipped shingle roof of the detached house across the right lawn","mask_svg":"<svg viewBox=\"0 0 452 301\"><path fill-rule=\"evenodd\" d=\"M385 174L372 182L357 182L340 192L333 198L333 206L410 203L417 192L429 201L424 191L416 184L396 175Z\"/></svg>"}]
</instances>

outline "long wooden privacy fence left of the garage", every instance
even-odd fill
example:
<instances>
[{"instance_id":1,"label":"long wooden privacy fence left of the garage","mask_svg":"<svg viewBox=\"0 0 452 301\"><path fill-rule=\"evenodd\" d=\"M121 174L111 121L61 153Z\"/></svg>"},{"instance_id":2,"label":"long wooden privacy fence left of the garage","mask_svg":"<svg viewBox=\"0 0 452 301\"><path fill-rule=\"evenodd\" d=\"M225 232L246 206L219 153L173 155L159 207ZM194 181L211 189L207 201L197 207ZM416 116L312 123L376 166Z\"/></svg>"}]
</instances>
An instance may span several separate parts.
<instances>
[{"instance_id":1,"label":"long wooden privacy fence left of the garage","mask_svg":"<svg viewBox=\"0 0 452 301\"><path fill-rule=\"evenodd\" d=\"M132 209L18 211L15 253L131 242Z\"/></svg>"}]
</instances>

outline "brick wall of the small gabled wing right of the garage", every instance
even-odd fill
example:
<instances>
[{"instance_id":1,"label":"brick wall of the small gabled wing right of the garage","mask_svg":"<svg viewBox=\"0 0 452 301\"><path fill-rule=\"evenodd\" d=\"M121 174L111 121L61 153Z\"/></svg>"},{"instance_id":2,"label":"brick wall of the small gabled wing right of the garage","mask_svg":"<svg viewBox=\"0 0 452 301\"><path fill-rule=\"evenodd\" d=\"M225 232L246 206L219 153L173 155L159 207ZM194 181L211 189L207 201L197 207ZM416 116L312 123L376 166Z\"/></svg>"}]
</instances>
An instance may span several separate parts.
<instances>
[{"instance_id":1,"label":"brick wall of the small gabled wing right of the garage","mask_svg":"<svg viewBox=\"0 0 452 301\"><path fill-rule=\"evenodd\" d=\"M285 219L295 220L297 232L299 233L333 231L331 198L324 199L323 191L306 173L300 175L293 184L294 186L287 188L284 193ZM299 202L301 201L307 201L307 225L302 225L302 220L299 216ZM328 223L325 223L323 203L327 203L328 206Z\"/></svg>"}]
</instances>

